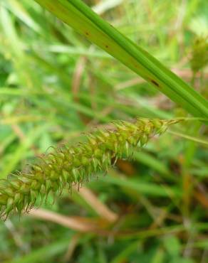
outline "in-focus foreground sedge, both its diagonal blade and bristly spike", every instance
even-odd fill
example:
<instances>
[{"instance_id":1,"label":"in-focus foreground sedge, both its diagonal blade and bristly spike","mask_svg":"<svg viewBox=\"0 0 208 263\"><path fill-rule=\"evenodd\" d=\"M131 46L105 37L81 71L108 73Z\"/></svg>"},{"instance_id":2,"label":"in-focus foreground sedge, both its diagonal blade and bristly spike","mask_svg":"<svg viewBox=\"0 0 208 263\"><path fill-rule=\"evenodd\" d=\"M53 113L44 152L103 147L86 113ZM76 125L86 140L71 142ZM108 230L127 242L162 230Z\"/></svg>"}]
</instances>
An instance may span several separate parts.
<instances>
[{"instance_id":1,"label":"in-focus foreground sedge, both its diagonal blade and bristly spike","mask_svg":"<svg viewBox=\"0 0 208 263\"><path fill-rule=\"evenodd\" d=\"M172 101L187 109L194 117L208 117L208 102L180 77L168 70L107 21L103 21L80 0L35 0L61 21L72 26L89 41L120 60L132 71L155 85ZM109 129L88 134L88 140L74 146L55 149L27 171L9 175L0 183L0 216L28 212L38 196L71 190L89 180L91 174L108 171L118 158L130 158L132 151L144 146L151 136L161 134L178 119L141 119L135 122L117 121Z\"/></svg>"}]
</instances>

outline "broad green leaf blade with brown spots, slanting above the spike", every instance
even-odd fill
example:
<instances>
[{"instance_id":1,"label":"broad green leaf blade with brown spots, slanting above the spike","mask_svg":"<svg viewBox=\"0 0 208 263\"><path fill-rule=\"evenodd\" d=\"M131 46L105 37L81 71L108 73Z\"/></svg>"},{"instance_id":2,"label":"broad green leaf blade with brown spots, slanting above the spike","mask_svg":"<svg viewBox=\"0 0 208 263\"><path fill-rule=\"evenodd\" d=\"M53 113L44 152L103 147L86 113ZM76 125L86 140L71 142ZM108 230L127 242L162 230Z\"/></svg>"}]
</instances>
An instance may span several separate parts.
<instances>
[{"instance_id":1,"label":"broad green leaf blade with brown spots, slanting above the spike","mask_svg":"<svg viewBox=\"0 0 208 263\"><path fill-rule=\"evenodd\" d=\"M168 70L80 0L35 0L89 41L120 60L128 68L180 104L195 117L208 117L208 102L180 77Z\"/></svg>"}]
</instances>

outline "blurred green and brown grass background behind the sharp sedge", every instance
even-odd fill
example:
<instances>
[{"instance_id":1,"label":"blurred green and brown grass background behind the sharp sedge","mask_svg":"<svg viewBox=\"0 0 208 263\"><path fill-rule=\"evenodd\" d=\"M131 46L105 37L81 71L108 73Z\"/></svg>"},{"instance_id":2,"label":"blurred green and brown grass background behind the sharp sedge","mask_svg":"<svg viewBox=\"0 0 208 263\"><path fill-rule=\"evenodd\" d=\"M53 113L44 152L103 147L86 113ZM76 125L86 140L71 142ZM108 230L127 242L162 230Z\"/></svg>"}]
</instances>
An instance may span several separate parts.
<instances>
[{"instance_id":1,"label":"blurred green and brown grass background behind the sharp sedge","mask_svg":"<svg viewBox=\"0 0 208 263\"><path fill-rule=\"evenodd\" d=\"M207 0L85 2L208 98ZM0 178L113 119L183 116L35 1L0 1ZM0 262L207 263L207 136L178 125L80 191L0 222Z\"/></svg>"}]
</instances>

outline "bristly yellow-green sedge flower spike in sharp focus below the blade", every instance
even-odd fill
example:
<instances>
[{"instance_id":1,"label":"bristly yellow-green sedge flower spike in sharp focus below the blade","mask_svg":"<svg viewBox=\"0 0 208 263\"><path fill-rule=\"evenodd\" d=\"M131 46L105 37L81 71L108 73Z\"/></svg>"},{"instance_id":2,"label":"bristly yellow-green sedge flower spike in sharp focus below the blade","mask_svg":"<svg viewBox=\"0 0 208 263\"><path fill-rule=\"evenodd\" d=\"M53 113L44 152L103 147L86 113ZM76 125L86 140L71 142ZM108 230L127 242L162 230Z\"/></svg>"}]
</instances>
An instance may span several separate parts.
<instances>
[{"instance_id":1,"label":"bristly yellow-green sedge flower spike in sharp focus below the blade","mask_svg":"<svg viewBox=\"0 0 208 263\"><path fill-rule=\"evenodd\" d=\"M28 212L38 196L61 193L63 188L78 187L90 175L108 168L118 158L129 158L132 150L142 147L151 136L165 132L177 120L136 119L116 121L108 129L87 134L87 141L56 149L41 161L29 166L28 172L9 175L0 181L0 217L12 212Z\"/></svg>"}]
</instances>

